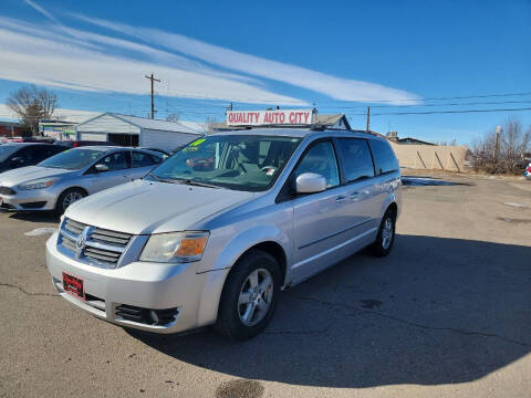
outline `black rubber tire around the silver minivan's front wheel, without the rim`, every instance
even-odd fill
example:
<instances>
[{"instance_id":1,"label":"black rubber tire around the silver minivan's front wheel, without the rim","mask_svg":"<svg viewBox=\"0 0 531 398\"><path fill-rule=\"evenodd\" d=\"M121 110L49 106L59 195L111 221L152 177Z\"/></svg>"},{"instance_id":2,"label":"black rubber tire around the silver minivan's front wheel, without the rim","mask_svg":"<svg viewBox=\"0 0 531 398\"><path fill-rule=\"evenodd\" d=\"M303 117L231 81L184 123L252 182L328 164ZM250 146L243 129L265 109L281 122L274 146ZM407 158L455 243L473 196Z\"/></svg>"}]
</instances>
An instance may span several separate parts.
<instances>
[{"instance_id":1,"label":"black rubber tire around the silver minivan's front wheel, without the rim","mask_svg":"<svg viewBox=\"0 0 531 398\"><path fill-rule=\"evenodd\" d=\"M260 270L267 270L272 277L273 285L269 290L269 292L272 292L272 297L263 318L253 325L246 325L241 315L242 306L246 304L239 304L240 292L246 289L248 277L253 272L263 272ZM266 272L263 273L267 274ZM261 250L252 250L244 254L235 264L225 282L219 302L216 329L229 339L244 341L258 335L266 328L273 316L279 300L281 281L279 263L271 254ZM256 300L260 300L260 297ZM262 300L266 302L264 298Z\"/></svg>"}]
</instances>

